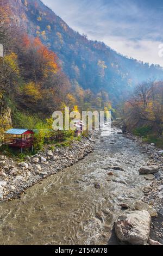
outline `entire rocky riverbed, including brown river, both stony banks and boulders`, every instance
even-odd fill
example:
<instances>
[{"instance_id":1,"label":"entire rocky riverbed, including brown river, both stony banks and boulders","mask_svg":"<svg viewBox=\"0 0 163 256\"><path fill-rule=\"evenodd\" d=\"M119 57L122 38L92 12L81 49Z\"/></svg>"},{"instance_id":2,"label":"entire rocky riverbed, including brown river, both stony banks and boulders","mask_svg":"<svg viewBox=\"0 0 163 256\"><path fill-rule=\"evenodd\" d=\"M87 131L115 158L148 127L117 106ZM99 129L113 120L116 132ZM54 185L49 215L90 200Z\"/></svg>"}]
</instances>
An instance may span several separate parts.
<instances>
[{"instance_id":1,"label":"entire rocky riverbed, including brown river, both stony banks and boulders","mask_svg":"<svg viewBox=\"0 0 163 256\"><path fill-rule=\"evenodd\" d=\"M162 243L162 153L153 144L114 128L0 164L1 201L18 197L0 204L2 245Z\"/></svg>"}]
</instances>

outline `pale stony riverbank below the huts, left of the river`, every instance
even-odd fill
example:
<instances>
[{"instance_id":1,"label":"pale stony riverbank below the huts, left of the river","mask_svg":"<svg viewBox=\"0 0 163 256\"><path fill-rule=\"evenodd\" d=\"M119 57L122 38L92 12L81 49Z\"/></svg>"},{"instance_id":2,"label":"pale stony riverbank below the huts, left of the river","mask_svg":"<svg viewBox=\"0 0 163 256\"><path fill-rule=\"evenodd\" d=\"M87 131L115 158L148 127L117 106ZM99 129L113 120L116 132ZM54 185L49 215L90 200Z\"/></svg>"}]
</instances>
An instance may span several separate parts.
<instances>
[{"instance_id":1,"label":"pale stony riverbank below the huts, left of the river","mask_svg":"<svg viewBox=\"0 0 163 256\"><path fill-rule=\"evenodd\" d=\"M66 167L72 166L93 152L95 141L91 135L74 140L70 147L55 147L45 149L45 153L27 156L24 162L0 155L0 202L20 198L28 187L56 174Z\"/></svg>"}]
</instances>

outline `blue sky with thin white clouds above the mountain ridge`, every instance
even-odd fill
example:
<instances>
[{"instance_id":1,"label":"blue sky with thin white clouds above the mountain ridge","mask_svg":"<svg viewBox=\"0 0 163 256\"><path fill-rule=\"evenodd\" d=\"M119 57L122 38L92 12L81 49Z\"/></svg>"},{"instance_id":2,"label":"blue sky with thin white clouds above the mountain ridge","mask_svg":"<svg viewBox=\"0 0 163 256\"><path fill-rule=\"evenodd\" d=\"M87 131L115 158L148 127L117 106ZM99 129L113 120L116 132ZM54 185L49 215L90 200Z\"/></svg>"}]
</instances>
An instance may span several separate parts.
<instances>
[{"instance_id":1,"label":"blue sky with thin white clouds above the mountain ridge","mask_svg":"<svg viewBox=\"0 0 163 256\"><path fill-rule=\"evenodd\" d=\"M128 57L163 66L162 0L42 0L70 27Z\"/></svg>"}]
</instances>

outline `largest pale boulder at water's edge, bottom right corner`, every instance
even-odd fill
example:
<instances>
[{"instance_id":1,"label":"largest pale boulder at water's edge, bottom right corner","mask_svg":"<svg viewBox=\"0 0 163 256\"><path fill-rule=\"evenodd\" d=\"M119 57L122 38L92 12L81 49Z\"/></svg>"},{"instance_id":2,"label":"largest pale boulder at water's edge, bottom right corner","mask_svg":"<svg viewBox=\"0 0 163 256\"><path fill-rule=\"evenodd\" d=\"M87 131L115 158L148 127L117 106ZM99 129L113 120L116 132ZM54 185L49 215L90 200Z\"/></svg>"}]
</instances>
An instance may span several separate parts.
<instances>
[{"instance_id":1,"label":"largest pale boulder at water's edge, bottom right corner","mask_svg":"<svg viewBox=\"0 0 163 256\"><path fill-rule=\"evenodd\" d=\"M148 211L130 211L118 218L115 231L122 244L145 245L148 242L151 216Z\"/></svg>"}]
</instances>

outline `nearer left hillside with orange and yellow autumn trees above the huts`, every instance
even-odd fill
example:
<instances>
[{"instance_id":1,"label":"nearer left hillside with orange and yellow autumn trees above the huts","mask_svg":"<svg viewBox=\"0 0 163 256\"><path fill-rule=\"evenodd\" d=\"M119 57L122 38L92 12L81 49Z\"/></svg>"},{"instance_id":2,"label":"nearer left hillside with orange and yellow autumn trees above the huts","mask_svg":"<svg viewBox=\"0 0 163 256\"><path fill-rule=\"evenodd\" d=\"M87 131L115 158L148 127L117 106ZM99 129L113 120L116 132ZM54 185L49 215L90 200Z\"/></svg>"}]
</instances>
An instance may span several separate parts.
<instances>
[{"instance_id":1,"label":"nearer left hillside with orange and yellow autumn trees above the huts","mask_svg":"<svg viewBox=\"0 0 163 256\"><path fill-rule=\"evenodd\" d=\"M38 36L13 22L10 8L1 9L0 142L9 127L48 128L56 110L111 108L108 93L93 93L70 82L57 54ZM9 19L10 18L10 19ZM51 125L51 126L50 126Z\"/></svg>"}]
</instances>

